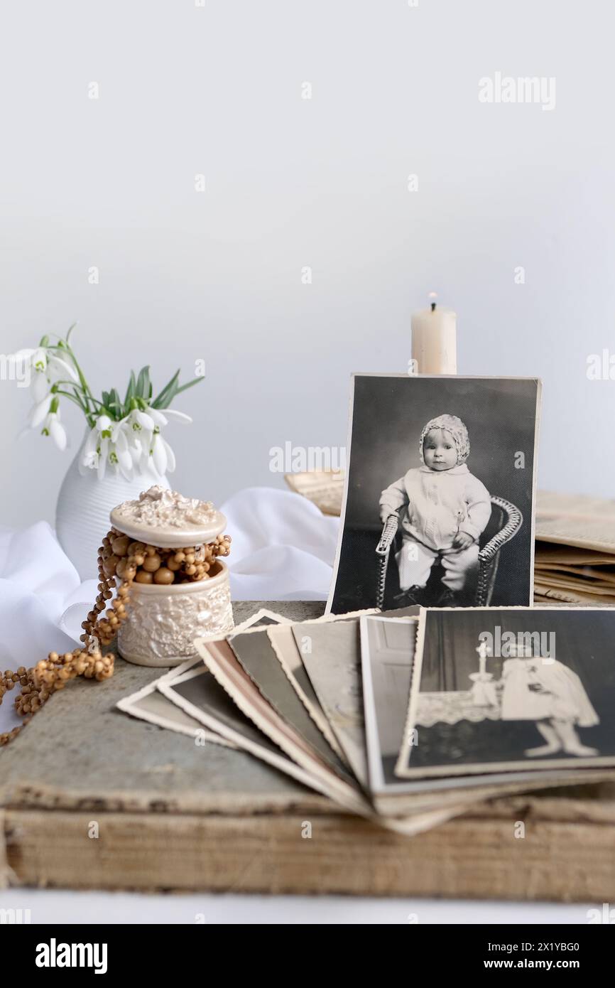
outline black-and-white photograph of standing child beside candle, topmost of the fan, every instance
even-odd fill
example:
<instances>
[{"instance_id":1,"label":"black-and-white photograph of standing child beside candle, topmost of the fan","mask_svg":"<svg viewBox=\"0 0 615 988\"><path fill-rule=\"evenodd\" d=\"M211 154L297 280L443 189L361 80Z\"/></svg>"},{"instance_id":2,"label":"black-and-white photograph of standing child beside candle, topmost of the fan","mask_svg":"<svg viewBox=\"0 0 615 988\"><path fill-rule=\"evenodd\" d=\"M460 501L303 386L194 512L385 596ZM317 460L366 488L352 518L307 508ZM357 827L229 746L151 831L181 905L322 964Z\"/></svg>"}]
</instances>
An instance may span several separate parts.
<instances>
[{"instance_id":1,"label":"black-and-white photograph of standing child beside candle, topmost of the fan","mask_svg":"<svg viewBox=\"0 0 615 988\"><path fill-rule=\"evenodd\" d=\"M402 778L615 765L615 614L422 611Z\"/></svg>"}]
</instances>

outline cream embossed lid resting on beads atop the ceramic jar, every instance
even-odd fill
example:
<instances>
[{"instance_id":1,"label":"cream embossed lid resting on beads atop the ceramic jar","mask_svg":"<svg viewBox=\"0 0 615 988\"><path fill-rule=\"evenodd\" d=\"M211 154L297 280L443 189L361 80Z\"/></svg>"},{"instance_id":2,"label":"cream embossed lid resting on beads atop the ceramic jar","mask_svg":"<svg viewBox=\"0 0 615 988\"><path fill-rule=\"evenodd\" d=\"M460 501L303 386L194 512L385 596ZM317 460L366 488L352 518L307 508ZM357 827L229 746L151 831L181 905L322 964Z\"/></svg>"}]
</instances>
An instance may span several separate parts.
<instances>
[{"instance_id":1,"label":"cream embossed lid resting on beads atop the ceramic jar","mask_svg":"<svg viewBox=\"0 0 615 988\"><path fill-rule=\"evenodd\" d=\"M124 535L161 548L210 542L226 528L225 516L211 502L185 498L163 487L150 487L138 500L117 505L110 518Z\"/></svg>"}]
</instances>

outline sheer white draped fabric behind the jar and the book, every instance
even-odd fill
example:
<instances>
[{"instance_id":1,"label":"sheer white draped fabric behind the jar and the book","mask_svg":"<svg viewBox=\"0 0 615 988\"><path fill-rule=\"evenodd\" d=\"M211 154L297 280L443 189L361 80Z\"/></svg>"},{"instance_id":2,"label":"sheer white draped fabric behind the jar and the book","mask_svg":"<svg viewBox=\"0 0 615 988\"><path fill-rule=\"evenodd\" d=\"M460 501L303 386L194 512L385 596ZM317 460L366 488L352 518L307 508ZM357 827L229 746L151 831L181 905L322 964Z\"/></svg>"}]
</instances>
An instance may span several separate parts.
<instances>
[{"instance_id":1,"label":"sheer white draped fabric behind the jar and the book","mask_svg":"<svg viewBox=\"0 0 615 988\"><path fill-rule=\"evenodd\" d=\"M232 536L228 563L233 600L326 600L339 519L306 498L253 487L220 510ZM101 537L104 533L101 533ZM97 581L81 583L46 522L0 529L0 667L33 666L55 650L71 651L96 598ZM0 730L20 723L11 694L0 707Z\"/></svg>"}]
</instances>

